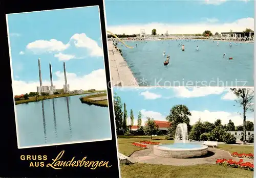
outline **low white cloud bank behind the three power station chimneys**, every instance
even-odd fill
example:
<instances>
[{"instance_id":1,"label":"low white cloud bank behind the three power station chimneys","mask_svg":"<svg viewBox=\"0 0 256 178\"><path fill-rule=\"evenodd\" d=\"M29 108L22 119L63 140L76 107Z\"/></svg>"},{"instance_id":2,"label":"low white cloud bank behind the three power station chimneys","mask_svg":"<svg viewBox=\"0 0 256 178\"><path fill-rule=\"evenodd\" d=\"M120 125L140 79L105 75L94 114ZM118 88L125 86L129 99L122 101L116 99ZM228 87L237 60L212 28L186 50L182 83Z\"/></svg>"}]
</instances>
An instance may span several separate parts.
<instances>
[{"instance_id":1,"label":"low white cloud bank behind the three power station chimneys","mask_svg":"<svg viewBox=\"0 0 256 178\"><path fill-rule=\"evenodd\" d=\"M53 85L56 88L63 88L64 84L64 74L60 71L55 72L57 77L56 81L53 81ZM67 73L68 84L70 85L70 90L88 90L88 89L96 89L96 90L104 90L106 89L106 77L105 70L98 69L94 70L91 73L83 76L77 76L75 73ZM43 85L50 85L50 80L45 80L42 82ZM28 93L31 91L36 91L36 87L39 86L39 81L19 81L14 80L12 83L13 94L19 95Z\"/></svg>"}]
</instances>

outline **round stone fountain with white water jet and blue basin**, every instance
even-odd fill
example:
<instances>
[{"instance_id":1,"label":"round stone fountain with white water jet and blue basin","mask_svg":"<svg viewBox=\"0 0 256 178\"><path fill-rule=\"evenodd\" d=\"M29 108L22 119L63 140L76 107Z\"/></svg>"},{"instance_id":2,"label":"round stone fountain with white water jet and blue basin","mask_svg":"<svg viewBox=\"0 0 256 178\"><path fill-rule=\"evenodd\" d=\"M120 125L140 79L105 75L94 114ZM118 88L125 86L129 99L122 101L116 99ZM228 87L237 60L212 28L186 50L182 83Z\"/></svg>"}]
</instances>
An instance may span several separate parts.
<instances>
[{"instance_id":1,"label":"round stone fountain with white water jet and blue basin","mask_svg":"<svg viewBox=\"0 0 256 178\"><path fill-rule=\"evenodd\" d=\"M188 141L187 124L179 123L173 144L154 146L154 155L166 158L191 158L207 154L208 146L193 144Z\"/></svg>"}]
</instances>

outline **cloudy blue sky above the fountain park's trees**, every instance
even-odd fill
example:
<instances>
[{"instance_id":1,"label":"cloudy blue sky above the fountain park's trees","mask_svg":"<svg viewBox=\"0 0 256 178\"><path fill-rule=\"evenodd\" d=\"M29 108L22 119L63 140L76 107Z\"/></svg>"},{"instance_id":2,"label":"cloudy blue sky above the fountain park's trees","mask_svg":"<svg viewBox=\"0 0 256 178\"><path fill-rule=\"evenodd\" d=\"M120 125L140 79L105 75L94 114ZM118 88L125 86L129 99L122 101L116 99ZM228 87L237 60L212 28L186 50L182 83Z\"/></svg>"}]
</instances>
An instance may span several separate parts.
<instances>
[{"instance_id":1,"label":"cloudy blue sky above the fountain park's trees","mask_svg":"<svg viewBox=\"0 0 256 178\"><path fill-rule=\"evenodd\" d=\"M154 120L166 121L165 117L175 105L185 105L191 112L190 124L201 118L202 121L214 122L221 119L227 124L231 119L235 125L243 123L240 113L242 108L236 103L234 96L228 88L201 87L201 88L114 88L114 92L126 104L130 123L130 110L135 115L137 124L138 112L142 113L142 121L146 117ZM247 120L253 121L253 113L247 113Z\"/></svg>"}]
</instances>

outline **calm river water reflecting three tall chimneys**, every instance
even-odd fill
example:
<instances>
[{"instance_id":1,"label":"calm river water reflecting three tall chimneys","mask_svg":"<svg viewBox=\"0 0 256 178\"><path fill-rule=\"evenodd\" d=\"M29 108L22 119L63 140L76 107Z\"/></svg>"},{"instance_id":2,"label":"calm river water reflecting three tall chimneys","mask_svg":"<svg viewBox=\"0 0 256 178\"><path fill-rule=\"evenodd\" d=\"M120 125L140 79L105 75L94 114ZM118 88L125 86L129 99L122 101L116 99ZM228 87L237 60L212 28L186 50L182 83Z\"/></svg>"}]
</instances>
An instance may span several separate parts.
<instances>
[{"instance_id":1,"label":"calm river water reflecting three tall chimneys","mask_svg":"<svg viewBox=\"0 0 256 178\"><path fill-rule=\"evenodd\" d=\"M111 139L109 109L75 95L16 105L19 146Z\"/></svg>"}]
</instances>

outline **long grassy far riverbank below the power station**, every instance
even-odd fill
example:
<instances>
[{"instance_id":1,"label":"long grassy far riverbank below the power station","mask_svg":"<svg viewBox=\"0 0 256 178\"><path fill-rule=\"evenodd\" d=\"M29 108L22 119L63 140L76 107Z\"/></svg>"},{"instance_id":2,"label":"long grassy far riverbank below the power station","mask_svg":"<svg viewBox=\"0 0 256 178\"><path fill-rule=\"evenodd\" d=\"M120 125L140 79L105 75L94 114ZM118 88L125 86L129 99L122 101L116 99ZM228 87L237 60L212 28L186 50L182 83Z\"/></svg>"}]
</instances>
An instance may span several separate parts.
<instances>
[{"instance_id":1,"label":"long grassy far riverbank below the power station","mask_svg":"<svg viewBox=\"0 0 256 178\"><path fill-rule=\"evenodd\" d=\"M36 101L45 100L45 99L52 99L52 98L57 98L57 97L74 96L74 95L96 93L96 92L105 92L105 90L100 90L100 91L96 90L96 91L92 91L92 92L84 91L84 93L60 93L60 94L52 94L52 95L48 95L48 96L41 96L41 95L31 96L28 99L22 99L22 100L15 101L15 105L36 102Z\"/></svg>"}]
</instances>

